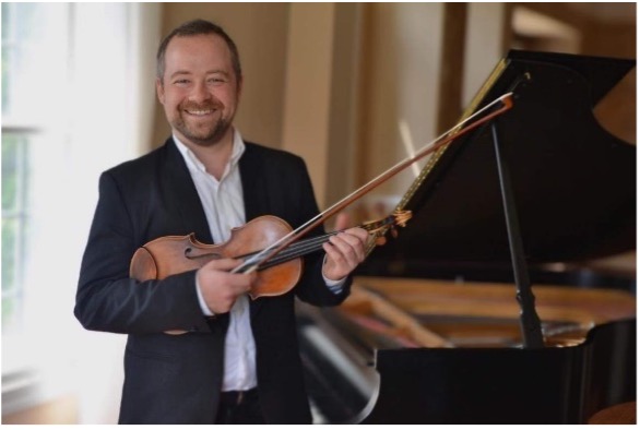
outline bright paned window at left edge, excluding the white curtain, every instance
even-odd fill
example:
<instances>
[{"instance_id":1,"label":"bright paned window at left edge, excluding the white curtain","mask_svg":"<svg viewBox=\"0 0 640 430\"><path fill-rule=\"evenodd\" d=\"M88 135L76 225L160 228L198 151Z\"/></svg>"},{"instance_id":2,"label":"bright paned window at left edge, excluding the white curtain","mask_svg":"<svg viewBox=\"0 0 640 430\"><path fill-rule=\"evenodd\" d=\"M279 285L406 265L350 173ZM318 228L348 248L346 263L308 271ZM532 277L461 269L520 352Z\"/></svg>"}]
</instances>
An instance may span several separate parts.
<instances>
[{"instance_id":1,"label":"bright paned window at left edge, excluding the white curtain","mask_svg":"<svg viewBox=\"0 0 640 430\"><path fill-rule=\"evenodd\" d=\"M63 4L2 3L3 335L20 333L23 327L32 155L38 136L50 129L45 119L47 103L34 95L43 94L43 81L66 73L66 62L44 62L52 53L64 56L67 51L67 14ZM49 56L43 55L44 50Z\"/></svg>"}]
</instances>

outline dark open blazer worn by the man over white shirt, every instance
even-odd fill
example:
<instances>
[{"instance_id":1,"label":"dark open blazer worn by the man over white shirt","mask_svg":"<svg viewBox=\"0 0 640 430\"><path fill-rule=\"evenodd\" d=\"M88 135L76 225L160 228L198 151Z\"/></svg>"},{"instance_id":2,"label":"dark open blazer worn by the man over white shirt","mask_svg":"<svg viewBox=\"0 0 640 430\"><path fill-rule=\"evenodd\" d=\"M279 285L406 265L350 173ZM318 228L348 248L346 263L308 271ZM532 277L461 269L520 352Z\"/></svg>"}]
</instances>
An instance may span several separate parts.
<instances>
[{"instance_id":1,"label":"dark open blazer worn by the man over white shirt","mask_svg":"<svg viewBox=\"0 0 640 430\"><path fill-rule=\"evenodd\" d=\"M247 220L275 215L294 228L318 207L301 158L247 142L240 176ZM82 260L74 313L87 330L128 334L120 423L213 423L223 381L228 314L203 318L194 271L163 280L129 278L135 250L162 236L212 238L198 192L173 140L105 171ZM322 254L305 261L289 292L251 301L258 387L268 423L306 423L311 415L296 341L294 296L341 303L320 274ZM167 330L188 331L168 335Z\"/></svg>"}]
</instances>

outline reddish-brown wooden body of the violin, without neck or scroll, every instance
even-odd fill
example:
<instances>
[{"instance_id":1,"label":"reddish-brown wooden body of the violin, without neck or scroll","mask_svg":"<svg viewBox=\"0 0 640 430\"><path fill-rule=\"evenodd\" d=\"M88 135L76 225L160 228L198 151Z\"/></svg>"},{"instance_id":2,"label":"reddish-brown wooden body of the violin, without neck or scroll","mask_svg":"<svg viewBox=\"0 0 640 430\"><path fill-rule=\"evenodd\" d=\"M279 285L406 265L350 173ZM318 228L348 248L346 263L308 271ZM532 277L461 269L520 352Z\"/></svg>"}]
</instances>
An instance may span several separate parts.
<instances>
[{"instance_id":1,"label":"reddish-brown wooden body of the violin, without neck or scroll","mask_svg":"<svg viewBox=\"0 0 640 430\"><path fill-rule=\"evenodd\" d=\"M202 243L193 234L161 237L135 251L129 276L139 282L164 279L198 270L212 260L242 259L268 248L291 231L292 227L283 219L265 215L232 229L229 240L220 244ZM261 268L249 297L257 299L288 292L300 279L301 273L301 258Z\"/></svg>"}]
</instances>

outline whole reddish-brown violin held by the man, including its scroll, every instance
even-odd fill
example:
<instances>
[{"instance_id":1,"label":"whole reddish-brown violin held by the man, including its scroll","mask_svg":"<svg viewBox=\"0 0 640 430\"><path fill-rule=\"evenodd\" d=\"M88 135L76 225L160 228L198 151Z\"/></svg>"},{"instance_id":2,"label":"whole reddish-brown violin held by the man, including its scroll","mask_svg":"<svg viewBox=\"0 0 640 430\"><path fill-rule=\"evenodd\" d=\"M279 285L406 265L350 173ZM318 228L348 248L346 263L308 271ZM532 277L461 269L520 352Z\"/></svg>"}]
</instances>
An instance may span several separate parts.
<instances>
[{"instance_id":1,"label":"whole reddish-brown violin held by the man, including its scroll","mask_svg":"<svg viewBox=\"0 0 640 430\"><path fill-rule=\"evenodd\" d=\"M386 218L360 225L375 243L381 244L387 231L404 227L411 218L411 211L395 211ZM164 236L139 248L129 267L129 276L139 282L164 279L167 276L198 270L212 260L241 259L250 261L293 231L283 219L264 215L234 228L228 241L206 244L198 241L193 234L187 236ZM289 291L300 279L303 256L322 249L329 238L340 231L316 236L297 241L277 255L263 260L258 266L258 277L248 292L251 299L280 296ZM247 272L249 268L245 270Z\"/></svg>"}]
</instances>

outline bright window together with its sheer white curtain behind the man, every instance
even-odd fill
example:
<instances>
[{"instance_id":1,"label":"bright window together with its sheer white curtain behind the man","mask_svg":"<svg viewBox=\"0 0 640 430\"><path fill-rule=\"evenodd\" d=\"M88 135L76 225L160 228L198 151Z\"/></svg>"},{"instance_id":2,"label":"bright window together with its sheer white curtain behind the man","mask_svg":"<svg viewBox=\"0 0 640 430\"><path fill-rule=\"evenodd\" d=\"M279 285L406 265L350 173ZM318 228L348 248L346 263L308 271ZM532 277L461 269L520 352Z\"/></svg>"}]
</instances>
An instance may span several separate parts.
<instances>
[{"instance_id":1,"label":"bright window together with its sheer white curtain behind the man","mask_svg":"<svg viewBox=\"0 0 640 430\"><path fill-rule=\"evenodd\" d=\"M162 7L1 7L2 414L73 394L114 422L126 337L73 306L99 174L150 145Z\"/></svg>"}]
</instances>

